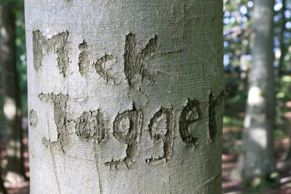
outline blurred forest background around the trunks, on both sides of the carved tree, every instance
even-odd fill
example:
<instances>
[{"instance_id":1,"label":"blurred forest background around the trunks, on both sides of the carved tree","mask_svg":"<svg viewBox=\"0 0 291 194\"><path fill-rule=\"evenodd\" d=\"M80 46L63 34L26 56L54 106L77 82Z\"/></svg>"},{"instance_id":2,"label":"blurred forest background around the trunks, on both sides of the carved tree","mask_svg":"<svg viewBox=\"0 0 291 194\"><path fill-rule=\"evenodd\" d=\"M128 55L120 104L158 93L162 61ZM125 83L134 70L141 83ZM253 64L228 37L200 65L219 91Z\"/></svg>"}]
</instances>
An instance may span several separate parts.
<instances>
[{"instance_id":1,"label":"blurred forest background around the trunks, on both sides of the carved tree","mask_svg":"<svg viewBox=\"0 0 291 194\"><path fill-rule=\"evenodd\" d=\"M4 0L5 1L5 0ZM3 3L5 3L3 1ZM2 0L1 0L2 2ZM0 4L1 4L0 2ZM28 108L27 108L27 74L26 43L23 0L13 0L16 20L16 68L19 79L19 95L22 109L23 158L25 176L29 178L28 162ZM275 55L275 159L280 173L279 185L266 182L259 188L242 188L238 181L232 180L231 171L242 145L242 130L245 116L245 104L248 92L248 72L252 63L252 11L251 0L224 0L224 70L226 86L230 94L225 104L224 115L224 151L223 151L223 191L224 193L291 193L291 162L284 169L279 164L288 159L291 137L291 0L275 0L274 6L274 48ZM1 13L0 13L1 14ZM1 21L0 21L1 25ZM1 68L1 66L0 66ZM1 71L1 69L0 69ZM3 82L0 79L0 166L2 177L5 175L7 160L5 158ZM283 169L283 170L282 170ZM287 169L287 170L286 170ZM280 171L281 170L281 171ZM284 179L285 178L285 179ZM289 178L289 179L288 179ZM29 192L29 181L21 183L4 183L9 193Z\"/></svg>"}]
</instances>

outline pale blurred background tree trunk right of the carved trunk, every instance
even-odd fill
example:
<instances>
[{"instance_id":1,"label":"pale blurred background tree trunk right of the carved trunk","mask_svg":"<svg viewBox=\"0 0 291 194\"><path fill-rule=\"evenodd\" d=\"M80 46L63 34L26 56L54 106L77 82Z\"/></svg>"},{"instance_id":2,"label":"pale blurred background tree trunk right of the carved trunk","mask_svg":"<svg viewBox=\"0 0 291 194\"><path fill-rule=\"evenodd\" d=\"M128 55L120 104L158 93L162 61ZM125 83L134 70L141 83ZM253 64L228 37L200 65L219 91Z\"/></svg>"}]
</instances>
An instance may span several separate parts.
<instances>
[{"instance_id":1,"label":"pale blurred background tree trunk right of the carved trunk","mask_svg":"<svg viewBox=\"0 0 291 194\"><path fill-rule=\"evenodd\" d=\"M248 78L249 92L237 176L245 184L256 185L275 172L274 0L255 0L254 6L253 64Z\"/></svg>"}]
</instances>

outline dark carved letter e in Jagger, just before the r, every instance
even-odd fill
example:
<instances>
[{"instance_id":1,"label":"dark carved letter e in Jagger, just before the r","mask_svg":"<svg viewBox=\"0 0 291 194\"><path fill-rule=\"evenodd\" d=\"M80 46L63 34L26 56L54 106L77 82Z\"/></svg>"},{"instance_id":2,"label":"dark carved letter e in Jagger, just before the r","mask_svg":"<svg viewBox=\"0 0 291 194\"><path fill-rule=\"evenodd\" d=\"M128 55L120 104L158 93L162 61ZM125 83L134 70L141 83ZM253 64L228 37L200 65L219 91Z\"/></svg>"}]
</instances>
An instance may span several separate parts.
<instances>
[{"instance_id":1,"label":"dark carved letter e in Jagger, just before the r","mask_svg":"<svg viewBox=\"0 0 291 194\"><path fill-rule=\"evenodd\" d=\"M195 99L189 99L187 105L182 109L179 118L180 137L187 145L197 145L198 138L194 136L193 130L191 130L191 125L197 123L201 119L202 110L200 103Z\"/></svg>"}]
</instances>

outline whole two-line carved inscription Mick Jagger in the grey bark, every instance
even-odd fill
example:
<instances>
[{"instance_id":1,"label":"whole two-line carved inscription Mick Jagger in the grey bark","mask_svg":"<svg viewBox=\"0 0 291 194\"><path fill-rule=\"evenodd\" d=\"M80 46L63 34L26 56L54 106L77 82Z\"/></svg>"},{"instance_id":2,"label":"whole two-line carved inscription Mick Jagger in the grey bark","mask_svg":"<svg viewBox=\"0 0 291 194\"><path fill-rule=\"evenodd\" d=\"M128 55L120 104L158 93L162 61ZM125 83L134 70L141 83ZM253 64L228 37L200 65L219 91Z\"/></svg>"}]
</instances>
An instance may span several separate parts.
<instances>
[{"instance_id":1,"label":"whole two-line carved inscription Mick Jagger in the grey bark","mask_svg":"<svg viewBox=\"0 0 291 194\"><path fill-rule=\"evenodd\" d=\"M38 70L42 65L43 56L48 52L55 52L58 56L58 67L60 73L65 77L68 71L68 53L69 53L69 33L62 32L50 39L45 38L41 32L34 31L33 34L33 66ZM148 59L151 58L158 48L158 38L151 38L144 49L138 46L137 37L135 34L129 33L126 35L125 51L124 51L124 73L129 83L132 83L140 77L141 80L153 80L153 75L148 69ZM116 77L110 71L111 66L117 62L117 57L113 55L100 56L96 62L90 60L88 54L88 45L83 41L79 45L80 55L78 60L79 71L81 76L86 76L90 65L95 67L97 74L100 75L106 82L115 81ZM90 62L91 61L91 62ZM91 64L90 64L91 63ZM229 91L228 91L229 92ZM212 142L217 135L216 124L216 109L225 99L227 92L222 92L219 97L209 96L209 135ZM68 120L67 102L70 100L68 95L64 94L43 94L39 95L42 102L52 103L54 111L54 121L57 127L57 140L51 142L43 138L43 144L51 149L65 152L72 144L70 138L71 133L68 132L68 123L74 123L75 133L81 141L92 142L95 146L102 144L103 140L110 137L115 138L123 145L123 150L126 147L126 157L120 161L105 162L110 169L117 169L119 166L127 166L129 168L137 157L139 151L139 141L142 136L142 111L137 110L134 105L132 110L118 113L113 121L113 133L106 134L106 122L104 112L106 110L94 110L81 113L81 116L74 120ZM33 128L37 127L37 114L35 110L30 111L30 125ZM179 120L175 121L174 110L161 108L156 112L149 121L148 129L151 140L156 145L162 145L163 155L146 159L146 163L158 164L167 162L171 159L172 147L174 141L175 130L186 146L197 146L198 138L195 134L195 125L202 120L201 104L197 100L188 99L188 103L182 107L179 115ZM72 126L71 126L72 127ZM116 142L116 140L114 140ZM124 155L123 155L124 156ZM100 159L101 160L101 159ZM118 159L119 160L119 159ZM110 161L110 159L108 160ZM104 163L103 163L104 164Z\"/></svg>"}]
</instances>

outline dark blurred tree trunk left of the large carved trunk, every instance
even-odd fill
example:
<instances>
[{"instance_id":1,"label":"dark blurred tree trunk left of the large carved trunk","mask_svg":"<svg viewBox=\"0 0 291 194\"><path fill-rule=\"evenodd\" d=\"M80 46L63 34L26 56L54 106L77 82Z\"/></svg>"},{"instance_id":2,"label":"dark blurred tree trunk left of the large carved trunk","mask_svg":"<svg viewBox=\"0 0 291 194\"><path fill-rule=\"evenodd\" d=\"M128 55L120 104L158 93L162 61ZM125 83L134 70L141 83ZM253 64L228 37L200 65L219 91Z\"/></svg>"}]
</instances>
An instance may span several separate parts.
<instances>
[{"instance_id":1,"label":"dark blurred tree trunk left of the large carved trunk","mask_svg":"<svg viewBox=\"0 0 291 194\"><path fill-rule=\"evenodd\" d=\"M24 180L22 160L21 105L16 70L15 15L11 4L1 9L1 76L3 82L6 138L6 180Z\"/></svg>"}]
</instances>

